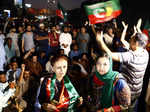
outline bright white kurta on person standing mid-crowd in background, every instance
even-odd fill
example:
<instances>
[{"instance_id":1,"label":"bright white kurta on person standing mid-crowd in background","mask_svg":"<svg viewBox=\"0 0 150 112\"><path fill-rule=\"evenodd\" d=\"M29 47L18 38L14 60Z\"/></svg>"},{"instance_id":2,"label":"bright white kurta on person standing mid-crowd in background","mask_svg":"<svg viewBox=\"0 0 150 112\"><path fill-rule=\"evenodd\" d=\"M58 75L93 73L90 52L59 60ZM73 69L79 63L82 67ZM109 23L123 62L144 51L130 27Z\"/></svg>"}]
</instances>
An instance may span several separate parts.
<instances>
[{"instance_id":1,"label":"bright white kurta on person standing mid-crowd in background","mask_svg":"<svg viewBox=\"0 0 150 112\"><path fill-rule=\"evenodd\" d=\"M70 45L72 43L72 37L69 33L61 33L59 37L60 48L64 49L64 54L68 56L70 52ZM63 44L68 45L66 48Z\"/></svg>"}]
</instances>

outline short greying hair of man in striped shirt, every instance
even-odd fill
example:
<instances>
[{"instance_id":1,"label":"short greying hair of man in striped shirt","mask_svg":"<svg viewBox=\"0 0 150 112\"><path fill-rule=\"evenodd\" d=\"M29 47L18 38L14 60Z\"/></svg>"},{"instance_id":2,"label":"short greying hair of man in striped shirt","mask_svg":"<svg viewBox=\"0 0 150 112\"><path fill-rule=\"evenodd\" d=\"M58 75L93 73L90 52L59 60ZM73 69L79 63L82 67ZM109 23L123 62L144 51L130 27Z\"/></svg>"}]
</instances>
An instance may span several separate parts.
<instances>
[{"instance_id":1,"label":"short greying hair of man in striped shirt","mask_svg":"<svg viewBox=\"0 0 150 112\"><path fill-rule=\"evenodd\" d=\"M134 42L138 42L139 46L143 48L147 45L147 42L148 42L148 37L144 33L136 33L132 37L132 39Z\"/></svg>"}]
</instances>

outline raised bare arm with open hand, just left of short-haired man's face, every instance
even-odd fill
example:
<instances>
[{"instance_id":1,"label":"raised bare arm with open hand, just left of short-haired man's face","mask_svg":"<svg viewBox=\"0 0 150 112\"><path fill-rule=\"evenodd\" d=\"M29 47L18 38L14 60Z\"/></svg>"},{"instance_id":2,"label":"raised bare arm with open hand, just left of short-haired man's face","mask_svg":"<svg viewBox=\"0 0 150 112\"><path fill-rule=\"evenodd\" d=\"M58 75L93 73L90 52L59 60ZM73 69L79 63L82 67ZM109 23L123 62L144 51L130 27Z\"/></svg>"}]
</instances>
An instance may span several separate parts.
<instances>
[{"instance_id":1,"label":"raised bare arm with open hand, just left of short-haired man's face","mask_svg":"<svg viewBox=\"0 0 150 112\"><path fill-rule=\"evenodd\" d=\"M123 25L124 29L123 29L123 32L121 35L121 42L127 49L129 49L129 43L125 40L128 24L125 25L124 21L122 21L122 25Z\"/></svg>"}]
</instances>

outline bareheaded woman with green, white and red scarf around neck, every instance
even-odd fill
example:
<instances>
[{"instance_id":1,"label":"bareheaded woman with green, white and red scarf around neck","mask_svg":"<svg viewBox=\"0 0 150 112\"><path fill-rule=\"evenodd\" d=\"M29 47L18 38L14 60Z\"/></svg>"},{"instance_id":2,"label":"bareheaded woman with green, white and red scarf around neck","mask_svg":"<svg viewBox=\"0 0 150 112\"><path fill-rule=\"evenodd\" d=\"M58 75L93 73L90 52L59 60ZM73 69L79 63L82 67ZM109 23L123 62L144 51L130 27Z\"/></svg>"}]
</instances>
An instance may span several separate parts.
<instances>
[{"instance_id":1,"label":"bareheaded woman with green, white and red scarf around neck","mask_svg":"<svg viewBox=\"0 0 150 112\"><path fill-rule=\"evenodd\" d=\"M51 64L54 74L45 77L38 97L41 112L74 112L76 106L82 104L82 98L66 75L67 57L55 56Z\"/></svg>"}]
</instances>

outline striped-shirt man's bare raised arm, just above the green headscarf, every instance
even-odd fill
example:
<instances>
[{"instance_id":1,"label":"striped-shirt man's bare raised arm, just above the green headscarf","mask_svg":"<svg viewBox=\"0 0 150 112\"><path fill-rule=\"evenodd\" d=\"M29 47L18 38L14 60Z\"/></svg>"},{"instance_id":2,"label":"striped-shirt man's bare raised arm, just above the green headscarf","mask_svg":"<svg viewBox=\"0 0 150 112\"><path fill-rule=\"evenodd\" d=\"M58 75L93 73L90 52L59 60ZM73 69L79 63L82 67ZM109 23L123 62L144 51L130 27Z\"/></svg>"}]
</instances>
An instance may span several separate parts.
<instances>
[{"instance_id":1,"label":"striped-shirt man's bare raised arm, just above the green headscarf","mask_svg":"<svg viewBox=\"0 0 150 112\"><path fill-rule=\"evenodd\" d=\"M103 41L103 32L97 33L96 40L101 48L112 57L114 61L120 61L119 53L112 52Z\"/></svg>"}]
</instances>

